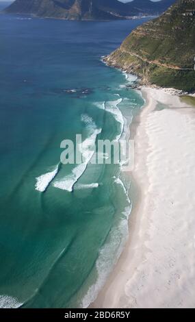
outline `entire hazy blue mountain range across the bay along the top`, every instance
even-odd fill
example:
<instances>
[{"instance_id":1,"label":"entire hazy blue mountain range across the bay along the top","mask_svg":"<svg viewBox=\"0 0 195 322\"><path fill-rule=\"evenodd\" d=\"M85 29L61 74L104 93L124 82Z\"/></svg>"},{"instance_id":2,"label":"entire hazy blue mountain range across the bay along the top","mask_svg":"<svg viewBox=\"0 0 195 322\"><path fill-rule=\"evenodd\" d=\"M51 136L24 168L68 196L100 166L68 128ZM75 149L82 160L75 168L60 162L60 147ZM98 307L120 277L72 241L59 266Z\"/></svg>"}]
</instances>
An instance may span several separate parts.
<instances>
[{"instance_id":1,"label":"entire hazy blue mountain range across the bay along the top","mask_svg":"<svg viewBox=\"0 0 195 322\"><path fill-rule=\"evenodd\" d=\"M174 0L16 0L4 11L7 13L34 14L40 17L68 20L113 20L140 15L158 15Z\"/></svg>"}]
</instances>

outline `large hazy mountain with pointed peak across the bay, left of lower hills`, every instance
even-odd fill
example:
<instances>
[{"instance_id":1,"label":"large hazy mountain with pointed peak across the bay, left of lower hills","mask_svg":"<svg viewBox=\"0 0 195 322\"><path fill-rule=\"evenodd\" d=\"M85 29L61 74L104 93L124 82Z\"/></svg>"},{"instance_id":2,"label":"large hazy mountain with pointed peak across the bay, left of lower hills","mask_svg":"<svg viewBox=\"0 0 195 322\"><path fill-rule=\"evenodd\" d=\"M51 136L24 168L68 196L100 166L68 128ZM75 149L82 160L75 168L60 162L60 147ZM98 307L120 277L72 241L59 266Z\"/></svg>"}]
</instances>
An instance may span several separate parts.
<instances>
[{"instance_id":1,"label":"large hazy mountain with pointed peak across the bay, left of lower hills","mask_svg":"<svg viewBox=\"0 0 195 322\"><path fill-rule=\"evenodd\" d=\"M70 20L110 20L125 16L127 8L118 0L16 0L5 12Z\"/></svg>"}]
</instances>

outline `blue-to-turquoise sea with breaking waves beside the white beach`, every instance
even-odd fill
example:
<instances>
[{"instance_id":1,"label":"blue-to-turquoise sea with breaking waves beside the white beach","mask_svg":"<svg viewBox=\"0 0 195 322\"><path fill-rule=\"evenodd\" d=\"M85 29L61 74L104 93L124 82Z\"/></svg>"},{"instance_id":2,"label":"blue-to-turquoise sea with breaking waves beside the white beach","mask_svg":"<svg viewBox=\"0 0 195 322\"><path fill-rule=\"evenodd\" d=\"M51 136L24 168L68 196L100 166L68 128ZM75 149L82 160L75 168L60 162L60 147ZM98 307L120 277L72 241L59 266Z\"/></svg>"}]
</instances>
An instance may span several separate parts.
<instances>
[{"instance_id":1,"label":"blue-to-turquoise sea with breaking waves beside the white beach","mask_svg":"<svg viewBox=\"0 0 195 322\"><path fill-rule=\"evenodd\" d=\"M128 121L140 110L101 55L145 20L0 14L0 306L86 307L116 262L129 182L118 164L60 164L60 143L115 139L120 110Z\"/></svg>"}]
</instances>

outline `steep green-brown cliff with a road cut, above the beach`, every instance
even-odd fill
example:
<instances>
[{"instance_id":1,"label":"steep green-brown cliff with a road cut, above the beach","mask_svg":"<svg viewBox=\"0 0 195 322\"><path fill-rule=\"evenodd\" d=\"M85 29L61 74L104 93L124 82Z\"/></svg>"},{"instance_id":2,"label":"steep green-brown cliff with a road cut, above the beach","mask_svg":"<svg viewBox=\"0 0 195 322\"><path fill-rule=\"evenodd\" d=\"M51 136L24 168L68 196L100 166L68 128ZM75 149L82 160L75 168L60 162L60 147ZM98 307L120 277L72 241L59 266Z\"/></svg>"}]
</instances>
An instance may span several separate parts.
<instances>
[{"instance_id":1,"label":"steep green-brown cliff with a road cut, above the beach","mask_svg":"<svg viewBox=\"0 0 195 322\"><path fill-rule=\"evenodd\" d=\"M105 58L140 75L143 84L195 90L195 0L179 0L159 18L135 29Z\"/></svg>"}]
</instances>

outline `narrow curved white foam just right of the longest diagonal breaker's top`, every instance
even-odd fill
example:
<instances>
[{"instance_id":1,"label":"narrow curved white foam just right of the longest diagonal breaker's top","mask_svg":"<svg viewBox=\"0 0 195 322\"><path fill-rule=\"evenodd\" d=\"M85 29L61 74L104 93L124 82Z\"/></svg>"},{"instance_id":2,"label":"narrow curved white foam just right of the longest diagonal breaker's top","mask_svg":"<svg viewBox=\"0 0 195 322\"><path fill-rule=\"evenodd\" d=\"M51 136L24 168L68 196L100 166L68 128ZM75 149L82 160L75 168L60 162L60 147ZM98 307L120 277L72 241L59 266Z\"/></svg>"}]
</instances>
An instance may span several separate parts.
<instances>
[{"instance_id":1,"label":"narrow curved white foam just right of the longest diagonal breaker's top","mask_svg":"<svg viewBox=\"0 0 195 322\"><path fill-rule=\"evenodd\" d=\"M120 95L118 95L120 96ZM116 136L116 140L120 140L121 136L122 136L122 132L124 129L124 119L122 116L122 112L120 111L120 108L118 108L118 104L120 104L122 101L121 98L116 99L116 101L107 101L106 103L106 110L107 112L113 114L114 118L116 119L116 121L118 123L120 123L120 134L118 134L118 136Z\"/></svg>"}]
</instances>

